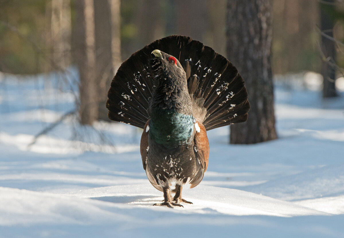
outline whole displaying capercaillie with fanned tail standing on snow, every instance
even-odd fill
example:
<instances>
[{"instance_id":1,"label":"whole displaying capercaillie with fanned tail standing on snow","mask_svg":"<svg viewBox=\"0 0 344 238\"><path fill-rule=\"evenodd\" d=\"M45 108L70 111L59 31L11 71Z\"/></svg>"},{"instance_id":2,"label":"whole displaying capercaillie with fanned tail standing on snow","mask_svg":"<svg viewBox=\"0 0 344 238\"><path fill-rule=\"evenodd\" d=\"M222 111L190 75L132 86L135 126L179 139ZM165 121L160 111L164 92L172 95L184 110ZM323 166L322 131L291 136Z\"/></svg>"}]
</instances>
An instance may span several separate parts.
<instances>
[{"instance_id":1,"label":"whole displaying capercaillie with fanned tail standing on snow","mask_svg":"<svg viewBox=\"0 0 344 238\"><path fill-rule=\"evenodd\" d=\"M154 205L168 207L191 203L182 198L182 188L197 186L207 170L206 131L246 121L250 108L233 64L179 35L154 41L123 62L106 106L111 120L143 129L143 169L164 194L163 203Z\"/></svg>"}]
</instances>

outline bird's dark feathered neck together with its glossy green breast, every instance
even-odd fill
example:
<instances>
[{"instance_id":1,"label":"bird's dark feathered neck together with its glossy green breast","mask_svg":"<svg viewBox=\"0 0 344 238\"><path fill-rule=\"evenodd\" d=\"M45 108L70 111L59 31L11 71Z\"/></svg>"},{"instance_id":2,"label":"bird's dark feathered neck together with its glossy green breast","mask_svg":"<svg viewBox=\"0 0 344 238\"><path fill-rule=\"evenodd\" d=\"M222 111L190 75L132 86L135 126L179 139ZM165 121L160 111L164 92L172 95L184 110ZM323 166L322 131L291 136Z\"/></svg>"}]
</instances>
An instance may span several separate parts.
<instances>
[{"instance_id":1,"label":"bird's dark feathered neck together with its glossy green breast","mask_svg":"<svg viewBox=\"0 0 344 238\"><path fill-rule=\"evenodd\" d=\"M154 65L156 66L156 65ZM150 99L150 138L159 144L188 144L192 140L192 102L183 69L162 66L153 71L155 87Z\"/></svg>"}]
</instances>

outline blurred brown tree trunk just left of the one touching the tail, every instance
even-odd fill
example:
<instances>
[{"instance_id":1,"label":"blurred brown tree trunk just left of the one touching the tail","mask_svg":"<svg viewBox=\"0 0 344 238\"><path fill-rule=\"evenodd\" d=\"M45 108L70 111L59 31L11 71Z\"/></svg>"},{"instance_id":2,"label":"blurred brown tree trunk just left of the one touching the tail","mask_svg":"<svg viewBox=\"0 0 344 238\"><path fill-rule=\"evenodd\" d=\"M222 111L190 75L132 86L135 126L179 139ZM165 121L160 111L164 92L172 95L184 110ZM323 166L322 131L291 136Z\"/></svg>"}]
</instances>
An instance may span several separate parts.
<instances>
[{"instance_id":1,"label":"blurred brown tree trunk just left of the one touching the tail","mask_svg":"<svg viewBox=\"0 0 344 238\"><path fill-rule=\"evenodd\" d=\"M80 74L80 123L91 125L98 118L94 2L93 0L75 1L75 9L76 63Z\"/></svg>"}]
</instances>

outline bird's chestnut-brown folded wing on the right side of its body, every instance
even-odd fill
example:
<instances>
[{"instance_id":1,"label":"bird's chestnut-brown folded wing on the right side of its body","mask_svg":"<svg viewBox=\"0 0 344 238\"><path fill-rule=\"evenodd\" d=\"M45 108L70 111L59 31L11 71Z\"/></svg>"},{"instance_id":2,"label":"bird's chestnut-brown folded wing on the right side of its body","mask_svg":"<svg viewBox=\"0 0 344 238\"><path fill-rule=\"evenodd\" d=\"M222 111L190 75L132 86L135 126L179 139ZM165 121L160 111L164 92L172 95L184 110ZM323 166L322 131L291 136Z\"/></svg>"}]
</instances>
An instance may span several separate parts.
<instances>
[{"instance_id":1,"label":"bird's chestnut-brown folded wing on the right side of its body","mask_svg":"<svg viewBox=\"0 0 344 238\"><path fill-rule=\"evenodd\" d=\"M207 131L205 130L205 127L203 124L196 119L195 125L198 125L200 127L200 132L195 133L194 138L194 149L197 155L197 158L201 162L202 170L197 173L195 178L190 182L191 186L190 188L196 187L203 179L204 172L208 168L208 160L209 160L209 141L207 137Z\"/></svg>"}]
</instances>

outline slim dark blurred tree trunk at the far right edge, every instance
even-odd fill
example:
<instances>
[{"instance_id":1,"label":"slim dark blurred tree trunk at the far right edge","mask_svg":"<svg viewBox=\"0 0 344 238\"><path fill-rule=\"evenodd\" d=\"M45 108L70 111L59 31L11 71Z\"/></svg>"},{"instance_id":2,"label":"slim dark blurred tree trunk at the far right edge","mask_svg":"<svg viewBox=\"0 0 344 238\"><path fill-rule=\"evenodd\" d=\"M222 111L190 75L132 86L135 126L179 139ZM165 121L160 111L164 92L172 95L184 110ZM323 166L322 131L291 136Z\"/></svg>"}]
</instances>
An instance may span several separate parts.
<instances>
[{"instance_id":1,"label":"slim dark blurred tree trunk at the far right edge","mask_svg":"<svg viewBox=\"0 0 344 238\"><path fill-rule=\"evenodd\" d=\"M326 2L328 4L326 4ZM323 83L323 97L336 97L338 96L335 87L335 42L333 40L333 26L334 19L330 13L334 12L334 0L324 0L320 3L320 30L323 34L331 37L332 39L322 35L321 36L321 51L323 54L323 61L321 62L321 74L324 77Z\"/></svg>"}]
</instances>

